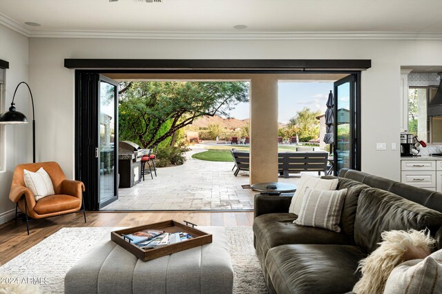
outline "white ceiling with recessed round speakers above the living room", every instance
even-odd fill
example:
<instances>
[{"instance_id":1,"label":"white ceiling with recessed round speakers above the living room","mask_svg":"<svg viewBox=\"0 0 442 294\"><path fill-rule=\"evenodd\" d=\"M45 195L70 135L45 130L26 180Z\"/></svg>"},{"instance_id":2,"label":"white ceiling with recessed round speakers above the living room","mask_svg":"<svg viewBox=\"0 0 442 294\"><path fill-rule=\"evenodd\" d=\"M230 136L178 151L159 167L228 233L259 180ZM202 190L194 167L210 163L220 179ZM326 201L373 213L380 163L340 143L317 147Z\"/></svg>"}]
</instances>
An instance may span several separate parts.
<instances>
[{"instance_id":1,"label":"white ceiling with recessed round speakers above the living room","mask_svg":"<svg viewBox=\"0 0 442 294\"><path fill-rule=\"evenodd\" d=\"M145 0L144 0L145 1ZM26 26L30 21L40 27ZM441 0L0 0L30 37L99 34L442 34ZM247 28L236 30L233 26ZM354 36L357 36L354 35Z\"/></svg>"}]
</instances>

